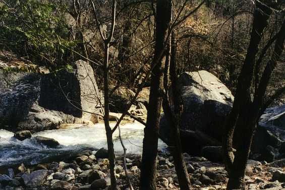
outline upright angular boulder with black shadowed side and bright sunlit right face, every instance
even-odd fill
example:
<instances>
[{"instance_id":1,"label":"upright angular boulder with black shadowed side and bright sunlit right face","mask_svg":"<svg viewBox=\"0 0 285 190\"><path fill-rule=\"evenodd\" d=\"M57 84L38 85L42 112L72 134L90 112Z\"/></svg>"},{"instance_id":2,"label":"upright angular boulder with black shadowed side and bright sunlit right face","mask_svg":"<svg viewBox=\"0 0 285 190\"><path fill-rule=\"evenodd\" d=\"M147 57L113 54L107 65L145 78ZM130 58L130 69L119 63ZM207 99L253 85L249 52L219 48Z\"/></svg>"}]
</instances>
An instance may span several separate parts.
<instances>
[{"instance_id":1,"label":"upright angular boulder with black shadowed side and bright sunlit right face","mask_svg":"<svg viewBox=\"0 0 285 190\"><path fill-rule=\"evenodd\" d=\"M78 60L72 69L62 70L56 75L47 74L41 78L39 105L72 115L75 122L90 120L97 123L96 115L84 112L98 113L101 101L101 94L88 62ZM72 105L70 100L76 102L76 105Z\"/></svg>"}]
</instances>

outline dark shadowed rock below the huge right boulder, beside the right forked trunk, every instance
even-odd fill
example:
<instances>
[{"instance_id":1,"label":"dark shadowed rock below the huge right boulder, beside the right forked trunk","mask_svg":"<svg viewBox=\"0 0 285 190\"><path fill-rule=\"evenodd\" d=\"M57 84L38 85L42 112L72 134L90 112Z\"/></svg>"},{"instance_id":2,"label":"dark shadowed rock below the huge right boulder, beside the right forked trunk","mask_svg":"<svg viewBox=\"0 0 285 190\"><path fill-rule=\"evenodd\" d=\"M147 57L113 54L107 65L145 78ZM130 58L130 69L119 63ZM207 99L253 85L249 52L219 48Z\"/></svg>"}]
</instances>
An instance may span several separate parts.
<instances>
[{"instance_id":1,"label":"dark shadowed rock below the huge right boulder, beside the right forked trunk","mask_svg":"<svg viewBox=\"0 0 285 190\"><path fill-rule=\"evenodd\" d=\"M212 162L222 162L222 147L203 147L201 155Z\"/></svg>"}]
</instances>

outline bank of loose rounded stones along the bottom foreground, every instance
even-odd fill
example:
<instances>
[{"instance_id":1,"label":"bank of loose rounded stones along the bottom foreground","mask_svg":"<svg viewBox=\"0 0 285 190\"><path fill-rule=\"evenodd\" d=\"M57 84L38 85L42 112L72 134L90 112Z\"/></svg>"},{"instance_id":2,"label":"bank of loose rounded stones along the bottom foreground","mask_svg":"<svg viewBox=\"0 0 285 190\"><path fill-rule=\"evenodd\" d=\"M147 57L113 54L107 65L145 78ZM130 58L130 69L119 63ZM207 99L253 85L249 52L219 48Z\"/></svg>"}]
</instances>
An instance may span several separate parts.
<instances>
[{"instance_id":1,"label":"bank of loose rounded stones along the bottom foreground","mask_svg":"<svg viewBox=\"0 0 285 190\"><path fill-rule=\"evenodd\" d=\"M221 163L184 153L187 170L194 189L225 189L227 172ZM169 153L159 152L157 158L157 188L179 189L178 179ZM127 155L128 173L135 189L139 186L141 156ZM284 189L285 160L272 163L248 161L246 187L248 189ZM26 167L20 164L0 175L0 189L4 190L91 190L108 189L110 185L107 150L86 150L71 159ZM129 189L123 168L123 156L116 157L116 177L120 189Z\"/></svg>"}]
</instances>

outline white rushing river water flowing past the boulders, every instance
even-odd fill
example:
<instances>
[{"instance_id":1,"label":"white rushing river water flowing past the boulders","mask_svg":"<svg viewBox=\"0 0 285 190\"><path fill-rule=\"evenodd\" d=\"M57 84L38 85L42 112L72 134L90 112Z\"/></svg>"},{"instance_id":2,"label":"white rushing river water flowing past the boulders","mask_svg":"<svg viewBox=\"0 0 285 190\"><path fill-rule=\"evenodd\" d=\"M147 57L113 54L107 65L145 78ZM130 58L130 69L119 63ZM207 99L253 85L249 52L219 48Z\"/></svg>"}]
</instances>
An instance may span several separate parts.
<instances>
[{"instance_id":1,"label":"white rushing river water flowing past the boulders","mask_svg":"<svg viewBox=\"0 0 285 190\"><path fill-rule=\"evenodd\" d=\"M115 124L112 123L111 126ZM127 153L141 154L143 141L143 128L140 123L127 123L121 126L121 136ZM71 125L67 129L38 132L31 139L19 141L13 133L0 130L0 167L19 163L36 164L51 160L52 158L67 157L83 150L97 150L107 148L106 133L103 123L95 125ZM33 137L43 136L55 139L61 145L56 149L48 148L37 143ZM116 153L122 153L123 148L119 139L118 130L113 134ZM166 145L159 140L159 149Z\"/></svg>"}]
</instances>

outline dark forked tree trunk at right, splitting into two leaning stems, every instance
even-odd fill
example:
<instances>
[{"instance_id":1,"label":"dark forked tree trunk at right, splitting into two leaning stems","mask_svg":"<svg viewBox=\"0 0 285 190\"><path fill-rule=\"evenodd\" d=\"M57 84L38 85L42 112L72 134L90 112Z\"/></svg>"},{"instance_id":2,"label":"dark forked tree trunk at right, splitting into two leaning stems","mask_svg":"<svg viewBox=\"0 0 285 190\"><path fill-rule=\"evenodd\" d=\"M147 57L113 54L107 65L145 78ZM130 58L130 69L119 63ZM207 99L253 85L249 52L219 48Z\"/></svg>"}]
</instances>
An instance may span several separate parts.
<instances>
[{"instance_id":1,"label":"dark forked tree trunk at right, splitting into two leaning stems","mask_svg":"<svg viewBox=\"0 0 285 190\"><path fill-rule=\"evenodd\" d=\"M250 89L252 87L253 72L255 66L255 56L258 51L262 33L267 25L272 10L262 3L256 2L253 29L251 40L247 51L246 59L239 76L233 109L226 121L225 136L223 139L224 163L229 172L229 182L227 189L240 189L244 185L245 169L250 153L253 135L259 118L262 99L264 97L268 81L276 60L283 50L284 26L281 27L276 40L275 50L271 60L268 62L258 89L252 101ZM284 25L284 24L283 24ZM235 145L237 152L233 156L233 137L235 132Z\"/></svg>"}]
</instances>

